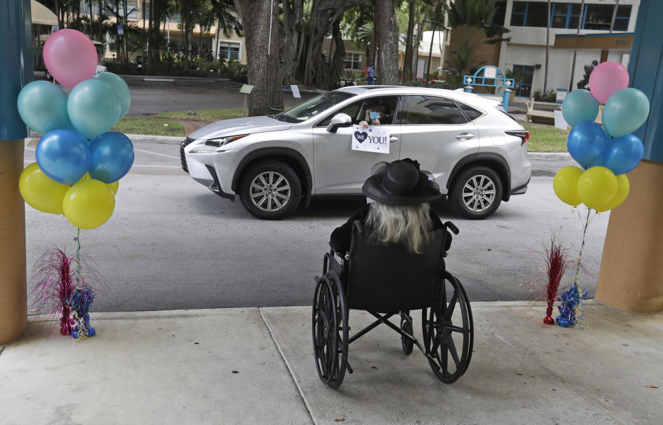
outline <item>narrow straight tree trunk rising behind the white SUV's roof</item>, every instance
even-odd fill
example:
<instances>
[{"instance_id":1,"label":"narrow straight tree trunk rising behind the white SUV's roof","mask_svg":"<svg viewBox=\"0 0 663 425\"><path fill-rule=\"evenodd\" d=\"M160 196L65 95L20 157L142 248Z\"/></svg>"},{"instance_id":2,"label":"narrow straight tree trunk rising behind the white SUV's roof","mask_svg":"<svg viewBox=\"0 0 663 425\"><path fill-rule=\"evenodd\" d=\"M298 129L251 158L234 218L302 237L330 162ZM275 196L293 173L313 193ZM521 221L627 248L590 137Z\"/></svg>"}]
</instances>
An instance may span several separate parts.
<instances>
[{"instance_id":1,"label":"narrow straight tree trunk rising behind the white SUV's roof","mask_svg":"<svg viewBox=\"0 0 663 425\"><path fill-rule=\"evenodd\" d=\"M377 0L373 10L378 48L378 82L381 85L398 84L398 24L395 0Z\"/></svg>"}]
</instances>

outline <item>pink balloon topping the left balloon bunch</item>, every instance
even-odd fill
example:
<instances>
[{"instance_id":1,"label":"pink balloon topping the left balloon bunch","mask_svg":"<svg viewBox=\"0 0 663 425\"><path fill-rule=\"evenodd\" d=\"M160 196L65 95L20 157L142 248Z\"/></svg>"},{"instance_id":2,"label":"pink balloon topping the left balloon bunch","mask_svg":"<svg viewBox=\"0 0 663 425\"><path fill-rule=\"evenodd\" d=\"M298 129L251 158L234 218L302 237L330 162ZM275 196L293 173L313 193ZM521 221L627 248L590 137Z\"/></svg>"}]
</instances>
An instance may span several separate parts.
<instances>
[{"instance_id":1,"label":"pink balloon topping the left balloon bunch","mask_svg":"<svg viewBox=\"0 0 663 425\"><path fill-rule=\"evenodd\" d=\"M44 63L60 84L74 88L79 82L95 75L97 49L80 31L55 31L44 43Z\"/></svg>"}]
</instances>

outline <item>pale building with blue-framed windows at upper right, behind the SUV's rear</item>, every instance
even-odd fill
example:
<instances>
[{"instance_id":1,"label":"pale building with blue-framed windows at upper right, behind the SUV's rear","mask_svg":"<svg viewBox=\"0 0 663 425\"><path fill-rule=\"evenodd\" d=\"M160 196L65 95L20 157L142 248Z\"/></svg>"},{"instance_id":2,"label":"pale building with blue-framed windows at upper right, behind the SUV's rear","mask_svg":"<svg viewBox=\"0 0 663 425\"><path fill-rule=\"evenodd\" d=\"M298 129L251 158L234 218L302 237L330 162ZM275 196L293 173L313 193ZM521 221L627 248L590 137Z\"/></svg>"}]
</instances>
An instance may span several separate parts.
<instances>
[{"instance_id":1,"label":"pale building with blue-framed windows at upper right, behind the SUV's rear","mask_svg":"<svg viewBox=\"0 0 663 425\"><path fill-rule=\"evenodd\" d=\"M579 43L575 39L562 46L558 36L573 37L579 32L581 36L597 37L596 40L600 41L599 37L608 35L630 35L635 30L639 5L640 0L552 1L548 22L547 0L498 1L494 21L509 28L510 32L506 36L511 39L496 45L499 48L499 63L495 65L505 72L512 70L517 81L517 96L532 97L535 91L544 91L544 86L548 91L575 89L577 82L583 78L584 67L593 61L600 63L610 60L627 66L631 44L620 41L619 37L612 37L604 39L611 43L616 39L612 45ZM546 40L548 25L550 29ZM547 84L546 44L550 46ZM584 48L572 48L576 46Z\"/></svg>"}]
</instances>

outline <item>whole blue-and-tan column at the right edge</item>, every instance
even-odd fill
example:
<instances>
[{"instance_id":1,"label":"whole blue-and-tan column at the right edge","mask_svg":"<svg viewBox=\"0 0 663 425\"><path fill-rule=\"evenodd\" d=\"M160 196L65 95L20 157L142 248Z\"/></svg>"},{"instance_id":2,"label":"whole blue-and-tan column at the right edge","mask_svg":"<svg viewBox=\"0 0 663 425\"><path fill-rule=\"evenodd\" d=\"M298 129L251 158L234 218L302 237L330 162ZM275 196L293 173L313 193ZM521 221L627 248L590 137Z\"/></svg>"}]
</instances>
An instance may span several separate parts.
<instances>
[{"instance_id":1,"label":"whole blue-and-tan column at the right edge","mask_svg":"<svg viewBox=\"0 0 663 425\"><path fill-rule=\"evenodd\" d=\"M651 108L633 133L644 160L631 173L631 193L610 214L596 299L629 312L663 310L663 1L642 0L628 74Z\"/></svg>"}]
</instances>

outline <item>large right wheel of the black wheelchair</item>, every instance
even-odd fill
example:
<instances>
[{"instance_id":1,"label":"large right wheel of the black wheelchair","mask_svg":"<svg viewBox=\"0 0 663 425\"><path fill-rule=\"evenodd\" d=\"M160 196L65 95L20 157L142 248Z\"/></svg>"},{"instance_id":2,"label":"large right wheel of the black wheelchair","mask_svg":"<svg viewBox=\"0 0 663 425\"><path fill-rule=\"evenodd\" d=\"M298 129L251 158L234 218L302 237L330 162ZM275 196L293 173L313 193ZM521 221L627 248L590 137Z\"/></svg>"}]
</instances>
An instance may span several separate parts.
<instances>
[{"instance_id":1,"label":"large right wheel of the black wheelchair","mask_svg":"<svg viewBox=\"0 0 663 425\"><path fill-rule=\"evenodd\" d=\"M444 272L440 299L436 307L421 312L423 343L430 367L438 379L451 384L470 365L474 329L472 310L463 286Z\"/></svg>"}]
</instances>

